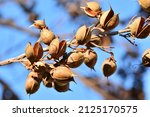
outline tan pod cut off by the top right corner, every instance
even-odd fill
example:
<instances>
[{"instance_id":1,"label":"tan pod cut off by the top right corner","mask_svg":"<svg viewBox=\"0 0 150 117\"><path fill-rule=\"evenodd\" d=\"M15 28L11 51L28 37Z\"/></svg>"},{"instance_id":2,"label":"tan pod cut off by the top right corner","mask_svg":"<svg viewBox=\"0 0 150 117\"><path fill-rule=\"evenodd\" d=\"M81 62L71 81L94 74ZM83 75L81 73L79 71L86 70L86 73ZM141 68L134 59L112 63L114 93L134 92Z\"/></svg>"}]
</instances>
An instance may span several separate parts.
<instances>
[{"instance_id":1,"label":"tan pod cut off by the top right corner","mask_svg":"<svg viewBox=\"0 0 150 117\"><path fill-rule=\"evenodd\" d=\"M150 12L150 0L138 0L138 2L145 11Z\"/></svg>"}]
</instances>

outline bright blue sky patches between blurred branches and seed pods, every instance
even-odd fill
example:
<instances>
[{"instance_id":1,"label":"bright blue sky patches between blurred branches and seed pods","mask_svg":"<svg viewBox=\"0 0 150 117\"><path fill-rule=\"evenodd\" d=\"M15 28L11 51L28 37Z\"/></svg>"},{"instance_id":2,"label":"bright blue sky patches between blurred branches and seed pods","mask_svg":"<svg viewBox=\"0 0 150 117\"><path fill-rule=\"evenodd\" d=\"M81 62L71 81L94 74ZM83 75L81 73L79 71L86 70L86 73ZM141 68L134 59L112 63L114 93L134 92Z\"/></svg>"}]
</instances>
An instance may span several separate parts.
<instances>
[{"instance_id":1,"label":"bright blue sky patches between blurred branches and seed pods","mask_svg":"<svg viewBox=\"0 0 150 117\"><path fill-rule=\"evenodd\" d=\"M110 8L110 3L114 11L116 13L120 13L120 20L123 20L126 17L135 16L135 13L139 8L136 0L101 0L100 3L103 10L108 10ZM0 6L0 13L4 18L15 19L15 22L17 22L17 24L28 28L28 26L31 24L28 23L26 15L23 14L23 11L18 10L18 8L19 6L14 2L8 2L7 4ZM56 5L55 0L37 0L37 6L35 8L35 11L40 14L40 19L46 20L46 23L49 26L49 28L53 30L56 34L73 33L80 26L79 24L76 25L74 21L70 20L71 18L69 17L67 12L61 6ZM60 19L62 20L59 23L59 25L57 25ZM118 26L115 30L121 28L123 27ZM32 28L32 30L37 31L34 28ZM14 29L8 29L7 27L0 27L0 35L2 35L0 37L0 61L21 54L22 52L24 52L24 48L29 41L32 43L36 41L34 37L31 37L27 33L23 33ZM117 43L127 42L119 36L115 36L115 41ZM136 43L140 47L140 54L142 54L145 49L150 47L149 42L150 39L148 38L145 40L136 40ZM100 67L103 60L105 60L108 57L108 55L99 50L97 51L99 53L99 60L95 66L95 69L96 73L99 76L102 76ZM119 64L119 55L124 51L123 47L120 47L118 45L113 51L115 53L116 59L118 60L118 66L122 66L121 63ZM9 54L7 54L7 52ZM135 64L137 64L139 61L140 60L135 61ZM85 65L82 65L81 67L75 70L81 73L82 75L88 75L88 73L91 74L91 70L85 67ZM94 74L94 72L92 73ZM28 71L25 70L25 68L21 64L13 64L9 66L0 67L0 78L6 81L12 87L12 89L14 89L14 91L20 96L21 99L103 99L99 94L84 86L77 78L75 78L77 84L71 83L71 89L73 90L73 92L58 93L54 89L47 89L43 85L41 85L38 92L34 95L31 95L29 98L29 96L25 94L24 89L27 74ZM148 71L144 77L144 91L146 92L146 99L150 99L149 76L150 71ZM120 79L116 74L110 77L110 81L115 82L117 84L120 83ZM132 80L129 82L132 82ZM127 88L129 87L129 85L130 83L127 84Z\"/></svg>"}]
</instances>

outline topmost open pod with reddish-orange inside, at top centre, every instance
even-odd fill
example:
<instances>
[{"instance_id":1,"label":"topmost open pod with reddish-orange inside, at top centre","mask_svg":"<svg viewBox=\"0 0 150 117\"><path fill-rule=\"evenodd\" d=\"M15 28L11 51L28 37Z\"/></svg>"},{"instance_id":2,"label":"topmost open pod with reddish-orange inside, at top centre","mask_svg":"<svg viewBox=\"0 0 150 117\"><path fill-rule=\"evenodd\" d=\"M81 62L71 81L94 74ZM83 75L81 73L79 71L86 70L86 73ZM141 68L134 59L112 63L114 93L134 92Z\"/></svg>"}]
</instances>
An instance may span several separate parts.
<instances>
[{"instance_id":1,"label":"topmost open pod with reddish-orange inside, at top centre","mask_svg":"<svg viewBox=\"0 0 150 117\"><path fill-rule=\"evenodd\" d=\"M87 2L86 7L81 7L85 14L94 18L101 13L100 5L97 2Z\"/></svg>"}]
</instances>

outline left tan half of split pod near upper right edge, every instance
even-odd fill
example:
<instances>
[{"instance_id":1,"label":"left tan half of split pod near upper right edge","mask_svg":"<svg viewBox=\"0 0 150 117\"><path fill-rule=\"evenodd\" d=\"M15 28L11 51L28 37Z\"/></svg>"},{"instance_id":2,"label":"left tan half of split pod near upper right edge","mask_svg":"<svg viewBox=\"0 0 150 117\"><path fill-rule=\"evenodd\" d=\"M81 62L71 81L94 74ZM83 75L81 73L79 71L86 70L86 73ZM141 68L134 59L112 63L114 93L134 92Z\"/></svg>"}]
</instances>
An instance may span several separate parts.
<instances>
[{"instance_id":1,"label":"left tan half of split pod near upper right edge","mask_svg":"<svg viewBox=\"0 0 150 117\"><path fill-rule=\"evenodd\" d=\"M142 30L144 22L145 22L145 19L143 17L135 18L134 21L129 25L129 28L131 30L131 34L134 36L139 34Z\"/></svg>"}]
</instances>

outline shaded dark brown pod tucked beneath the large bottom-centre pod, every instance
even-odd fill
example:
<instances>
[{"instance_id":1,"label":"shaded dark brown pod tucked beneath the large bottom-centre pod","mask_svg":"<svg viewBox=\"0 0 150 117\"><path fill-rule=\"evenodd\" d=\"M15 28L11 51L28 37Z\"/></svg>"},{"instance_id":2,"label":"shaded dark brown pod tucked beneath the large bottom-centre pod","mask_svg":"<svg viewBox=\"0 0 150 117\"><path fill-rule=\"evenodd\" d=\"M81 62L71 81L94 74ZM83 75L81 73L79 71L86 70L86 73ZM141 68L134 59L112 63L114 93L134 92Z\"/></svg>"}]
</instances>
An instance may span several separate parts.
<instances>
[{"instance_id":1,"label":"shaded dark brown pod tucked beneath the large bottom-centre pod","mask_svg":"<svg viewBox=\"0 0 150 117\"><path fill-rule=\"evenodd\" d=\"M57 82L54 82L54 88L56 91L58 92L66 92L66 91L69 91L69 83L67 84L64 84L64 85L60 85L58 84Z\"/></svg>"}]
</instances>

